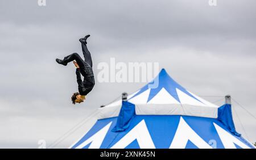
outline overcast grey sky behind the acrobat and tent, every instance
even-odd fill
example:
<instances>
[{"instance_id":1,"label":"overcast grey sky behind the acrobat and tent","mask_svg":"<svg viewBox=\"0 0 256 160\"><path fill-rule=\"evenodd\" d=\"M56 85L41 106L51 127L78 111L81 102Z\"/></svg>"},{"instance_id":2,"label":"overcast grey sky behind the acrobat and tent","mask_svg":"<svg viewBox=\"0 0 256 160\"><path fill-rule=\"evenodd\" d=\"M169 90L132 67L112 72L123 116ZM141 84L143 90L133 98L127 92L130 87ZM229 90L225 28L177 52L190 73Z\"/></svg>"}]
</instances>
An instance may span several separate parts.
<instances>
[{"instance_id":1,"label":"overcast grey sky behind the acrobat and tent","mask_svg":"<svg viewBox=\"0 0 256 160\"><path fill-rule=\"evenodd\" d=\"M55 58L81 52L90 33L94 74L99 62L159 62L189 91L222 105L230 94L256 115L254 0L0 1L0 148L52 144L123 91L145 83L98 83L73 105L75 67ZM82 55L82 54L81 54ZM211 97L211 96L223 96ZM221 100L220 100L221 99ZM256 120L234 103L238 132L256 141ZM86 121L55 148L67 148L92 127ZM242 125L241 125L242 123ZM244 129L243 129L244 128Z\"/></svg>"}]
</instances>

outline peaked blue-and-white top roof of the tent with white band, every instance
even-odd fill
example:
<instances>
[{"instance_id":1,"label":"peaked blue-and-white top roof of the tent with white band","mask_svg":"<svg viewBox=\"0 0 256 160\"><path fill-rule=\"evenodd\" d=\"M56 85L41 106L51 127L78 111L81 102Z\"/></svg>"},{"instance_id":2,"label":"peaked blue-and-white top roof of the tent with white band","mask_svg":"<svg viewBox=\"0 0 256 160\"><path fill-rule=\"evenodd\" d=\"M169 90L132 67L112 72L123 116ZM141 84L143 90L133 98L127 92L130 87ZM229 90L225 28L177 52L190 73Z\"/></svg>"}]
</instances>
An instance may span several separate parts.
<instances>
[{"instance_id":1,"label":"peaked blue-and-white top roof of the tent with white band","mask_svg":"<svg viewBox=\"0 0 256 160\"><path fill-rule=\"evenodd\" d=\"M128 96L136 105L137 115L188 115L217 117L218 106L200 98L179 85L165 69L142 89ZM119 99L100 108L99 119L118 116L122 106Z\"/></svg>"}]
</instances>

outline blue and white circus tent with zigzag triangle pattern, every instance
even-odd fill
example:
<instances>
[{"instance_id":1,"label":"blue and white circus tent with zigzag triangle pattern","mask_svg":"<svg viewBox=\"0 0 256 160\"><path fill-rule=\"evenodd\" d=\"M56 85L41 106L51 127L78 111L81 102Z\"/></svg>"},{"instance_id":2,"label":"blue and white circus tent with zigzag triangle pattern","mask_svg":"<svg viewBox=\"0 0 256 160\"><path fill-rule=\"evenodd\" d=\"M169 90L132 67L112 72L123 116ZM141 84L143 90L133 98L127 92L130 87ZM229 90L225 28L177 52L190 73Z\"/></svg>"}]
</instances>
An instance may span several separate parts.
<instances>
[{"instance_id":1,"label":"blue and white circus tent with zigzag triangle pattern","mask_svg":"<svg viewBox=\"0 0 256 160\"><path fill-rule=\"evenodd\" d=\"M162 69L141 90L98 109L71 148L254 148L234 127L231 104L216 106Z\"/></svg>"}]
</instances>

